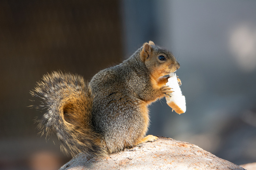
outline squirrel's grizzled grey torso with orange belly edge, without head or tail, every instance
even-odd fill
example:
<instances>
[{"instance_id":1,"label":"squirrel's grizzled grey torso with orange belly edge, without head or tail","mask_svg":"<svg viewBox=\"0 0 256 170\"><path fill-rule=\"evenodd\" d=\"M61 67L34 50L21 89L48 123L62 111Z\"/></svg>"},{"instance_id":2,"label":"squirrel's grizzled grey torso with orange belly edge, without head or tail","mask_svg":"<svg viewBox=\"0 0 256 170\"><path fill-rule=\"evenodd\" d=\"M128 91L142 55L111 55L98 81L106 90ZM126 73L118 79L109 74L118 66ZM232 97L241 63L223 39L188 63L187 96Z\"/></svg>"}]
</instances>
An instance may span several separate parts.
<instances>
[{"instance_id":1,"label":"squirrel's grizzled grey torso with orange belly edge, without head or tail","mask_svg":"<svg viewBox=\"0 0 256 170\"><path fill-rule=\"evenodd\" d=\"M145 74L145 65L134 55L98 72L90 81L94 94L92 124L109 153L133 147L147 132L147 104L137 96L137 90L143 90L139 86L150 84Z\"/></svg>"}]
</instances>

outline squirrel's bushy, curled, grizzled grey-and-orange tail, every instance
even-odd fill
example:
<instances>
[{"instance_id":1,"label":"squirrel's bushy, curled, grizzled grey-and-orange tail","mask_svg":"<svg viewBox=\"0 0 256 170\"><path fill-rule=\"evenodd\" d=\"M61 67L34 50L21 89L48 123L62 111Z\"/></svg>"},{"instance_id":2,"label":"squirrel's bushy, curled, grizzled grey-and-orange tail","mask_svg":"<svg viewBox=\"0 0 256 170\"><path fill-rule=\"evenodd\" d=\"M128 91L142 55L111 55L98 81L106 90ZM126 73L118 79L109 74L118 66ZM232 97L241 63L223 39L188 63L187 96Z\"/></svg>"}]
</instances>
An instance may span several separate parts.
<instances>
[{"instance_id":1,"label":"squirrel's bushy, curled, grizzled grey-and-orange tail","mask_svg":"<svg viewBox=\"0 0 256 170\"><path fill-rule=\"evenodd\" d=\"M41 99L34 106L44 112L37 120L41 135L55 132L61 150L72 156L79 152L105 155L98 134L91 127L93 96L82 76L52 72L43 76L30 93Z\"/></svg>"}]
</instances>

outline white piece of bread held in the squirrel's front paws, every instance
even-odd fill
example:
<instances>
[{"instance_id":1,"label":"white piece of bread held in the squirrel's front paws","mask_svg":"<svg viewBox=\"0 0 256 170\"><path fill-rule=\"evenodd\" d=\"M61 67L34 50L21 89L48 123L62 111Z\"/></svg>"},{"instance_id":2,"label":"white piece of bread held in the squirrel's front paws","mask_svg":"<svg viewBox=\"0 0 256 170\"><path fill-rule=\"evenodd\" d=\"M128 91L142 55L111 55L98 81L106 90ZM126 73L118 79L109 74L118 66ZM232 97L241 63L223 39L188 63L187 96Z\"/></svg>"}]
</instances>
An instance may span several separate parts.
<instances>
[{"instance_id":1,"label":"white piece of bread held in the squirrel's front paws","mask_svg":"<svg viewBox=\"0 0 256 170\"><path fill-rule=\"evenodd\" d=\"M172 93L169 93L170 97L166 97L166 103L178 114L186 112L185 96L181 93L176 73L170 73L170 78L166 83L167 86L172 88Z\"/></svg>"}]
</instances>

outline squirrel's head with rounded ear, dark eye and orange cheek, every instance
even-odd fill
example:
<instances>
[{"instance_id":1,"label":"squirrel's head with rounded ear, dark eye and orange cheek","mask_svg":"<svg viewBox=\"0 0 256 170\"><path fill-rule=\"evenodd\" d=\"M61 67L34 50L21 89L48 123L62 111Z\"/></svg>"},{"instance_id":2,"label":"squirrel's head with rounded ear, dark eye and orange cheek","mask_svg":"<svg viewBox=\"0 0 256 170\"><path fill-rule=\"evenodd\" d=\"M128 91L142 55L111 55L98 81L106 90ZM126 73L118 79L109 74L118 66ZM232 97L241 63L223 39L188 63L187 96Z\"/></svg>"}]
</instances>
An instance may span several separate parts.
<instances>
[{"instance_id":1,"label":"squirrel's head with rounded ear, dark eye and orange cheek","mask_svg":"<svg viewBox=\"0 0 256 170\"><path fill-rule=\"evenodd\" d=\"M154 45L152 41L144 43L140 59L154 76L161 77L180 68L176 58L168 50Z\"/></svg>"}]
</instances>

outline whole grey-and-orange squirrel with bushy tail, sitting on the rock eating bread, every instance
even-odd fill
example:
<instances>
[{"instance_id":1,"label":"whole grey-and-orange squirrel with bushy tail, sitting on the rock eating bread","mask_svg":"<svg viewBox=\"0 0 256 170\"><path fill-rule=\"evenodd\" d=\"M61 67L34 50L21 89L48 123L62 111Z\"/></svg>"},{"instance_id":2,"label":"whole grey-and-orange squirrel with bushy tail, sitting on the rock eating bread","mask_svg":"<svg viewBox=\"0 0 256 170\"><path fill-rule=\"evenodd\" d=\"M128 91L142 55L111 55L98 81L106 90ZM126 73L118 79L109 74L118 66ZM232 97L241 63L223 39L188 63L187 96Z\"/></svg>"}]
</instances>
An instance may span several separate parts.
<instances>
[{"instance_id":1,"label":"whole grey-and-orange squirrel with bushy tail, sitting on the rock eating bread","mask_svg":"<svg viewBox=\"0 0 256 170\"><path fill-rule=\"evenodd\" d=\"M155 141L158 137L145 137L147 106L172 92L166 75L179 68L171 52L149 41L89 83L71 73L48 73L30 91L40 99L34 107L44 112L37 120L41 135L55 132L61 150L72 156L106 156Z\"/></svg>"}]
</instances>

